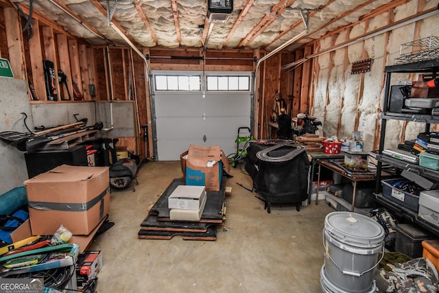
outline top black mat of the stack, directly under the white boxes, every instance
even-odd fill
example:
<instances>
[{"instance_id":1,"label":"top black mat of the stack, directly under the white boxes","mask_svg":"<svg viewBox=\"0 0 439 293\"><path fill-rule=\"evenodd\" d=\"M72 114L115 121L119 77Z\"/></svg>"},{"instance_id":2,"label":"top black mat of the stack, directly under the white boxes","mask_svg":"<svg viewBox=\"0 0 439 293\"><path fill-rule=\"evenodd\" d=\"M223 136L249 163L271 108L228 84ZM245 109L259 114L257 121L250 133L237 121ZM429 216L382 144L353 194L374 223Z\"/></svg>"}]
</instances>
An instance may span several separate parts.
<instances>
[{"instance_id":1,"label":"top black mat of the stack, directly under the white boxes","mask_svg":"<svg viewBox=\"0 0 439 293\"><path fill-rule=\"evenodd\" d=\"M158 221L170 221L167 207L167 198L172 194L178 185L185 185L185 178L176 178L165 189L154 206L150 209L150 215L156 215ZM223 206L226 198L226 178L222 178L222 185L219 191L207 191L207 200L204 211L199 222L222 223Z\"/></svg>"}]
</instances>

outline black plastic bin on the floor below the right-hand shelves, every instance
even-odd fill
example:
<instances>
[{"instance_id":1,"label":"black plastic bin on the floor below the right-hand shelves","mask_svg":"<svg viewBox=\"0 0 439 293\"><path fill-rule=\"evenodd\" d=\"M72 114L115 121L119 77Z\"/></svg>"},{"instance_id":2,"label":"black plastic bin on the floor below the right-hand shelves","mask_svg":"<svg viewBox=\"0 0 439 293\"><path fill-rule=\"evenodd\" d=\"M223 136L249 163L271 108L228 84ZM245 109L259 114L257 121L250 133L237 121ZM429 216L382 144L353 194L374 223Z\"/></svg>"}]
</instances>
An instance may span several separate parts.
<instances>
[{"instance_id":1,"label":"black plastic bin on the floor below the right-hand shelves","mask_svg":"<svg viewBox=\"0 0 439 293\"><path fill-rule=\"evenodd\" d=\"M405 253L409 257L423 256L424 240L431 239L426 231L413 224L399 224L396 226L395 251Z\"/></svg>"}]
</instances>

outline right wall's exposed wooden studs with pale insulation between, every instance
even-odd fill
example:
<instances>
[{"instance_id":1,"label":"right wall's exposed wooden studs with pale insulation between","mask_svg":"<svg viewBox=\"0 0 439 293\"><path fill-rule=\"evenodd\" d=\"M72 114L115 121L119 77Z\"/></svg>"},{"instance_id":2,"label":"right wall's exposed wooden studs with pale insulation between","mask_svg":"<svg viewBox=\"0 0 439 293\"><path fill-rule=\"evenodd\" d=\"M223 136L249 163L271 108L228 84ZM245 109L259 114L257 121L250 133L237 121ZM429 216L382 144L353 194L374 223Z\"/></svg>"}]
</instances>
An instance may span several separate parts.
<instances>
[{"instance_id":1,"label":"right wall's exposed wooden studs with pale insulation between","mask_svg":"<svg viewBox=\"0 0 439 293\"><path fill-rule=\"evenodd\" d=\"M431 36L434 34L431 27L439 23L439 14L434 14L402 27L392 27L437 10L436 1L394 2L312 43L314 64L309 75L313 97L309 104L312 105L311 115L323 122L322 135L342 138L351 137L353 131L362 131L364 150L377 148L384 67L393 65L394 59L399 57L401 43ZM370 36L381 30L381 34ZM303 57L296 54L296 60L300 58ZM370 71L351 74L353 62L367 58L372 59ZM392 84L416 79L417 75L413 74L392 75ZM298 84L294 86L296 93ZM416 138L423 130L423 124L388 121L387 128L386 146L396 147L405 139Z\"/></svg>"}]
</instances>

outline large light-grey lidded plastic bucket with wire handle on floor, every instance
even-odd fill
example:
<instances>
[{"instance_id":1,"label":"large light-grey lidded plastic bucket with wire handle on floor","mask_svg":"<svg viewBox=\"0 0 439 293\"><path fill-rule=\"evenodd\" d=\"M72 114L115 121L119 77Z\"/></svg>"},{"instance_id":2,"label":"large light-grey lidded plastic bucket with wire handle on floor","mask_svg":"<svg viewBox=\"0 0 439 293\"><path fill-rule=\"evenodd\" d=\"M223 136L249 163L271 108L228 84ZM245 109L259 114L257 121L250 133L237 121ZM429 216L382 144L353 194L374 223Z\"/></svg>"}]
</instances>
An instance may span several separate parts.
<instances>
[{"instance_id":1,"label":"large light-grey lidded plastic bucket with wire handle on floor","mask_svg":"<svg viewBox=\"0 0 439 293\"><path fill-rule=\"evenodd\" d=\"M335 292L372 292L374 269L383 252L385 233L374 220L345 211L329 213L324 220L324 275ZM327 286L328 287L328 286Z\"/></svg>"}]
</instances>

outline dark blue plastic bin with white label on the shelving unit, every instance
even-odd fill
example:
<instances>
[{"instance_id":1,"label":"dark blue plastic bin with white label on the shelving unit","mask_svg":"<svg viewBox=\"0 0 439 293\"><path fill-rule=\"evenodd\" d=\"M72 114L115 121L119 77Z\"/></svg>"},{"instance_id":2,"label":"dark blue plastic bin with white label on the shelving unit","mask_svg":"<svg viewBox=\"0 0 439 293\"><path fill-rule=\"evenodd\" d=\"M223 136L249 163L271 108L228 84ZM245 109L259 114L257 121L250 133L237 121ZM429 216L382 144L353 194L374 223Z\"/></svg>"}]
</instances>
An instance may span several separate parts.
<instances>
[{"instance_id":1,"label":"dark blue plastic bin with white label on the shelving unit","mask_svg":"<svg viewBox=\"0 0 439 293\"><path fill-rule=\"evenodd\" d=\"M396 202L397 204L401 204L401 206L406 207L407 209L418 212L419 196L416 196L416 194L409 194L408 192L402 191L393 186L394 183L400 180L407 179L396 178L381 180L381 183L383 184L383 196L392 200L393 202Z\"/></svg>"}]
</instances>

